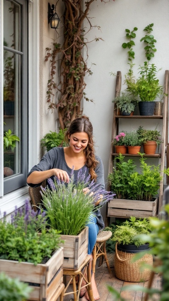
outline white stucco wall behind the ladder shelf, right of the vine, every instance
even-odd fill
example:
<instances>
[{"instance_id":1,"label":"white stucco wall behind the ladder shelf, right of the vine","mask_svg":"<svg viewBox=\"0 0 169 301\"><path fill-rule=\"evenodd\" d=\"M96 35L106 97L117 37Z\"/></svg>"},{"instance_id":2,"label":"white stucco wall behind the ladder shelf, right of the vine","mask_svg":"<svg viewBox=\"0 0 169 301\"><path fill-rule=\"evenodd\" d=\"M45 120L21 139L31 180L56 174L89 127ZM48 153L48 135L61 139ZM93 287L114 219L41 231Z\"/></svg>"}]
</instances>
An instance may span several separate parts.
<instances>
[{"instance_id":1,"label":"white stucco wall behind the ladder shelf, right of the vine","mask_svg":"<svg viewBox=\"0 0 169 301\"><path fill-rule=\"evenodd\" d=\"M145 36L143 29L154 23L154 38L157 40L155 47L157 52L150 61L158 69L161 85L164 84L165 70L169 69L169 1L163 0L115 0L107 3L97 0L90 7L88 17L92 25L100 26L100 30L94 28L88 33L88 40L101 37L104 41L91 42L88 44L88 67L92 63L92 76L86 76L87 84L85 92L93 102L84 100L84 113L90 117L94 127L94 136L96 138L96 152L102 158L105 172L105 181L108 175L109 153L112 132L112 99L115 96L116 78L110 76L110 72L117 73L121 71L122 86L124 74L128 72L128 54L127 49L121 47L126 42L125 29L133 30L136 26L136 46L134 74L137 76L139 65L146 61L144 45L140 39ZM88 21L85 20L84 27L88 27ZM87 30L86 30L87 31ZM84 50L86 57L86 50Z\"/></svg>"}]
</instances>

